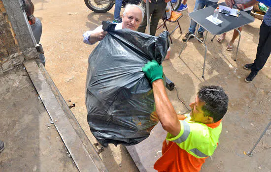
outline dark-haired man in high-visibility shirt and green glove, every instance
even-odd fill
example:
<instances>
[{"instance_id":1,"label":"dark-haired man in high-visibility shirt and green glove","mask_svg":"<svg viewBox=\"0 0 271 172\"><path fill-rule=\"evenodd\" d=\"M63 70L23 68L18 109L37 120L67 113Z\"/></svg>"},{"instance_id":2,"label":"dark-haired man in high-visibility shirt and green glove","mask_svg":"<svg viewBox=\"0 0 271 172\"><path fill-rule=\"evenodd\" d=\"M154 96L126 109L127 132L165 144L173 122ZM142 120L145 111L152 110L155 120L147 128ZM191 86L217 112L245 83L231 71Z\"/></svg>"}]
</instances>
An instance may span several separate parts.
<instances>
[{"instance_id":1,"label":"dark-haired man in high-visibility shirt and green glove","mask_svg":"<svg viewBox=\"0 0 271 172\"><path fill-rule=\"evenodd\" d=\"M177 115L163 84L163 67L149 61L142 68L152 84L156 113L168 131L162 154L154 169L159 172L199 172L205 159L218 145L221 119L228 110L229 98L221 86L203 86L190 114Z\"/></svg>"}]
</instances>

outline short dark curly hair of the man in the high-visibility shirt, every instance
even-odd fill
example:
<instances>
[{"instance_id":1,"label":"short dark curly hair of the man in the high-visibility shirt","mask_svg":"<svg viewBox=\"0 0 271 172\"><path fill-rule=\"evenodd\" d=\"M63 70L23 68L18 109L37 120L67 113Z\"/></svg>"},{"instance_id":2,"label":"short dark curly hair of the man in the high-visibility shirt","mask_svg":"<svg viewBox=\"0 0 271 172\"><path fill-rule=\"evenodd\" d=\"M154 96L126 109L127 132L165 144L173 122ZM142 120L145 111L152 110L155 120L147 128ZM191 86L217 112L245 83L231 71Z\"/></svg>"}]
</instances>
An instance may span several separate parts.
<instances>
[{"instance_id":1,"label":"short dark curly hair of the man in the high-visibility shirt","mask_svg":"<svg viewBox=\"0 0 271 172\"><path fill-rule=\"evenodd\" d=\"M198 97L205 103L202 107L204 115L212 117L214 122L219 121L226 114L229 97L221 86L202 86Z\"/></svg>"}]
</instances>

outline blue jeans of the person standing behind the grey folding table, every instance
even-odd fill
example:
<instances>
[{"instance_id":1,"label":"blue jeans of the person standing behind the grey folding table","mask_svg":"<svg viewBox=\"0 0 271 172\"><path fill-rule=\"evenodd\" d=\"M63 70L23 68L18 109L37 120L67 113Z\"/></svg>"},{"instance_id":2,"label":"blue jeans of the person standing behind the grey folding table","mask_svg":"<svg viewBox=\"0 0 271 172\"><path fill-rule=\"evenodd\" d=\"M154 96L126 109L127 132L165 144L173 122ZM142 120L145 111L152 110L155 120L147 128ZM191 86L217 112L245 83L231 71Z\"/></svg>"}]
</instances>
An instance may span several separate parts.
<instances>
[{"instance_id":1,"label":"blue jeans of the person standing behind the grey folding table","mask_svg":"<svg viewBox=\"0 0 271 172\"><path fill-rule=\"evenodd\" d=\"M209 0L196 0L194 11L197 11L199 9L203 9L204 7L212 6L215 4L217 4L217 2L211 2ZM196 26L197 26L197 23L194 20L191 20L189 33L194 34L196 30ZM200 27L198 32L204 32L204 29Z\"/></svg>"}]
</instances>

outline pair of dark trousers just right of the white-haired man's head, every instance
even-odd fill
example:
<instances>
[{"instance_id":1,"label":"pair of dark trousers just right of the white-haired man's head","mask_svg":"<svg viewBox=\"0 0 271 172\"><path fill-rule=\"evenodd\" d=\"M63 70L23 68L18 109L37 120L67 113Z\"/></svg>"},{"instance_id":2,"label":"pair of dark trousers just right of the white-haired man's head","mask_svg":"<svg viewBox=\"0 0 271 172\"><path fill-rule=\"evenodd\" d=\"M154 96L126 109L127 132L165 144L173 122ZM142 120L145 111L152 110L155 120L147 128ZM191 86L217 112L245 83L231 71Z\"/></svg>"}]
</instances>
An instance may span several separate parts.
<instances>
[{"instance_id":1,"label":"pair of dark trousers just right of the white-haired man's head","mask_svg":"<svg viewBox=\"0 0 271 172\"><path fill-rule=\"evenodd\" d=\"M145 15L142 23L138 27L137 31L145 33L146 26L147 26L147 10L146 10L146 3L142 0L141 2L142 6L145 8ZM158 26L158 22L160 18L163 16L166 10L167 3L165 0L152 0L151 3L149 3L150 7L150 35L154 36L156 33L156 29Z\"/></svg>"}]
</instances>

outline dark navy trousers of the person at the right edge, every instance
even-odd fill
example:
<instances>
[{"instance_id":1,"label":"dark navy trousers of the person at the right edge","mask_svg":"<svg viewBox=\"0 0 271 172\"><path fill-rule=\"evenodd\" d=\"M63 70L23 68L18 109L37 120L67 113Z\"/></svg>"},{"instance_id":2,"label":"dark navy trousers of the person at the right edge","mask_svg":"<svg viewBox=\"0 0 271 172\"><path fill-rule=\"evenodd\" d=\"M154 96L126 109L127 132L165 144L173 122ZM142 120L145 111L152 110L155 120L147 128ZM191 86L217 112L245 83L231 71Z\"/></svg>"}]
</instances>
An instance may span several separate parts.
<instances>
[{"instance_id":1,"label":"dark navy trousers of the person at the right edge","mask_svg":"<svg viewBox=\"0 0 271 172\"><path fill-rule=\"evenodd\" d=\"M251 72L258 73L261 70L271 53L271 27L267 26L265 22L260 28L260 39L257 48L256 59L254 60Z\"/></svg>"}]
</instances>

